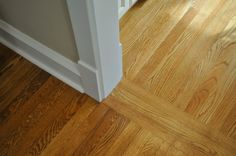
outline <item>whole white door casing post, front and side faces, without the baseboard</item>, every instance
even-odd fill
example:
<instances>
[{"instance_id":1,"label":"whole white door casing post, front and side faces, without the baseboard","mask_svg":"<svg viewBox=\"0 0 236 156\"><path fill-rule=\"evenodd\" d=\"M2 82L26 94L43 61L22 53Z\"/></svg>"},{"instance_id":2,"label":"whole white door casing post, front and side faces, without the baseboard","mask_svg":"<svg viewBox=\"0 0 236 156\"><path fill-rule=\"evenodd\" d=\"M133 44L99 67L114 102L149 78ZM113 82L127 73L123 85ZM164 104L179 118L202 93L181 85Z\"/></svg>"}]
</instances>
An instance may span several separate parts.
<instances>
[{"instance_id":1,"label":"whole white door casing post, front and side faces, without the baseboard","mask_svg":"<svg viewBox=\"0 0 236 156\"><path fill-rule=\"evenodd\" d=\"M93 71L80 70L84 90L102 101L122 77L118 3L115 0L67 0L67 5L80 57L78 64Z\"/></svg>"}]
</instances>

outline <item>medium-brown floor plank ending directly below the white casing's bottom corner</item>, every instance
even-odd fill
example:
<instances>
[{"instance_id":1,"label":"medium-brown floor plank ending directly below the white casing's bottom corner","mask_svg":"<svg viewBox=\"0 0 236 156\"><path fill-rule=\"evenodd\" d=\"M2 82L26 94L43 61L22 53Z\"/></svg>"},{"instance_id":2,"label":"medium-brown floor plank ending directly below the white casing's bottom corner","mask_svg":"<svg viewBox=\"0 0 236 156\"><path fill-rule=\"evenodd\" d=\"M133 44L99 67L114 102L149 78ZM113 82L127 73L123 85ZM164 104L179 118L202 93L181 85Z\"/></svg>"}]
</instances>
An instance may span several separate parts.
<instances>
[{"instance_id":1,"label":"medium-brown floor plank ending directly below the white casing's bottom corner","mask_svg":"<svg viewBox=\"0 0 236 156\"><path fill-rule=\"evenodd\" d=\"M90 132L102 121L109 108L88 99L62 131L56 136L41 155L72 155Z\"/></svg>"}]
</instances>

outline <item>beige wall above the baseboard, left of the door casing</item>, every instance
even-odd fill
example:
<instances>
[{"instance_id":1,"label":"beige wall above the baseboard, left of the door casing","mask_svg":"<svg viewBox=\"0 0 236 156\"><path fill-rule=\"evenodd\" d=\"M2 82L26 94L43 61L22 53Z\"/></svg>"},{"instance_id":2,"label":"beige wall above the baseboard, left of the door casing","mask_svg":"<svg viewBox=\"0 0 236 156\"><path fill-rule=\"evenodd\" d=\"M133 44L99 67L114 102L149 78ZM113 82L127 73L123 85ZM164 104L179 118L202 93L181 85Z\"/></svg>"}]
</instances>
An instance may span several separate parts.
<instances>
[{"instance_id":1,"label":"beige wall above the baseboard, left of the door casing","mask_svg":"<svg viewBox=\"0 0 236 156\"><path fill-rule=\"evenodd\" d=\"M78 60L66 0L0 0L0 18L72 61Z\"/></svg>"}]
</instances>

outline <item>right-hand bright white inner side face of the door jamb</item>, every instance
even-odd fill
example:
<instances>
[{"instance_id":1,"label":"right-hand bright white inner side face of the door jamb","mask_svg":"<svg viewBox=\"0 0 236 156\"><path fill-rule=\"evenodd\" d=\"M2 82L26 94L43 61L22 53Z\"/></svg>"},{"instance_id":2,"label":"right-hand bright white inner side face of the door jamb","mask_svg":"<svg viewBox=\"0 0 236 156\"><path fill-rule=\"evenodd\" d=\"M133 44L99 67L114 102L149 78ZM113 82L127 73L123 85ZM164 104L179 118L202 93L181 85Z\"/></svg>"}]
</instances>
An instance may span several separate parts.
<instances>
[{"instance_id":1,"label":"right-hand bright white inner side face of the door jamb","mask_svg":"<svg viewBox=\"0 0 236 156\"><path fill-rule=\"evenodd\" d=\"M92 38L103 89L107 97L122 78L122 50L119 42L118 3L116 0L90 0Z\"/></svg>"}]
</instances>

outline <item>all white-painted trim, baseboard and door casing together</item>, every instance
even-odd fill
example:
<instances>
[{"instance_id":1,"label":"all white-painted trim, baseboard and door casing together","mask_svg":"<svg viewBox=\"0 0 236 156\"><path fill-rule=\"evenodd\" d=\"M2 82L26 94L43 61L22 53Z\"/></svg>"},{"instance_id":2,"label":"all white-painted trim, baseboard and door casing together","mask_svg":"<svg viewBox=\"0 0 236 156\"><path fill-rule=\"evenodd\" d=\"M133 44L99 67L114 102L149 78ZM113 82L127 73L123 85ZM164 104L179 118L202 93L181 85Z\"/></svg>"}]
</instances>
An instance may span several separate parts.
<instances>
[{"instance_id":1,"label":"all white-painted trim, baseboard and door casing together","mask_svg":"<svg viewBox=\"0 0 236 156\"><path fill-rule=\"evenodd\" d=\"M102 101L122 78L118 3L67 0L77 63L0 20L0 41L71 87Z\"/></svg>"}]
</instances>

